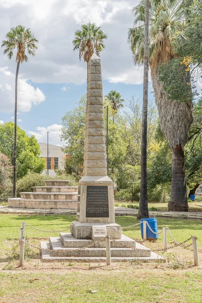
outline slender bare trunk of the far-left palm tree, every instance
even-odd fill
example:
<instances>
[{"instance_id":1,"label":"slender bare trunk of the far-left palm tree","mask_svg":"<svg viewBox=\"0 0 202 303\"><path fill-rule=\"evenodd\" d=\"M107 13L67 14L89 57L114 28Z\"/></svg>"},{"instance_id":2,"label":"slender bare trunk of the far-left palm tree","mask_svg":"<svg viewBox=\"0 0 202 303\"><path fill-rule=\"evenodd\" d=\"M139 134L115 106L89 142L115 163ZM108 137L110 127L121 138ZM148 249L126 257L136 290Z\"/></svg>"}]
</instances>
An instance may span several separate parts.
<instances>
[{"instance_id":1,"label":"slender bare trunk of the far-left palm tree","mask_svg":"<svg viewBox=\"0 0 202 303\"><path fill-rule=\"evenodd\" d=\"M17 149L17 104L18 104L18 73L20 62L17 63L15 82L15 126L14 126L14 157L13 157L13 198L16 198L16 149Z\"/></svg>"}]
</instances>

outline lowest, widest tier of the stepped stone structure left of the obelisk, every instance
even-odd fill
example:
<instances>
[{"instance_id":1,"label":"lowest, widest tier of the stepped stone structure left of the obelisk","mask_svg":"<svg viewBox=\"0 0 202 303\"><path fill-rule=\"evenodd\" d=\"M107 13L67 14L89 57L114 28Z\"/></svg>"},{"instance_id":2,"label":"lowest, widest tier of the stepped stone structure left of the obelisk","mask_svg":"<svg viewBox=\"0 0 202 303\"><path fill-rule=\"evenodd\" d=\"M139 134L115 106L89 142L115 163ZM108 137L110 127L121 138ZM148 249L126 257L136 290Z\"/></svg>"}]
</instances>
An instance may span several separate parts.
<instances>
[{"instance_id":1,"label":"lowest, widest tier of the stepped stone structure left of the obelisk","mask_svg":"<svg viewBox=\"0 0 202 303\"><path fill-rule=\"evenodd\" d=\"M77 209L77 200L29 200L21 198L12 198L8 199L8 207L43 210L72 210Z\"/></svg>"}]
</instances>

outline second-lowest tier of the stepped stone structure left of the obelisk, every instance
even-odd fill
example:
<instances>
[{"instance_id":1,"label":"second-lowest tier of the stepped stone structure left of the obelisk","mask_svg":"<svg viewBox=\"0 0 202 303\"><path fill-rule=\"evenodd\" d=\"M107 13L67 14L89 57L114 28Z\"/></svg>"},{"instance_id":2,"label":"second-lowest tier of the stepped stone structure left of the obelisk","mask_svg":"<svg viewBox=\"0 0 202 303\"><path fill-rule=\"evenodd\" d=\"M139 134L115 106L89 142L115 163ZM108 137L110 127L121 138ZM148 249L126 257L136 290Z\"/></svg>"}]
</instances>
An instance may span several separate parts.
<instances>
[{"instance_id":1,"label":"second-lowest tier of the stepped stone structure left of the obelisk","mask_svg":"<svg viewBox=\"0 0 202 303\"><path fill-rule=\"evenodd\" d=\"M21 198L39 200L76 200L77 192L21 192Z\"/></svg>"}]
</instances>

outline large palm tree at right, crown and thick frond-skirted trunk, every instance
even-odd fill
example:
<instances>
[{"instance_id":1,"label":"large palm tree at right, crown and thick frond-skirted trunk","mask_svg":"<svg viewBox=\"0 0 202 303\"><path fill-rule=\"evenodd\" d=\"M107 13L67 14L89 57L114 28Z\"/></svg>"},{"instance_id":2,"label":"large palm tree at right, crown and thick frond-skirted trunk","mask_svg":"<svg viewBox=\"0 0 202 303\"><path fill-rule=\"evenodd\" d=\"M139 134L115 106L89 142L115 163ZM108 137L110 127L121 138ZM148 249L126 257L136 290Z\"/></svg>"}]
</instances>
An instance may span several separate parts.
<instances>
[{"instance_id":1,"label":"large palm tree at right, crown and thick frond-skirted trunk","mask_svg":"<svg viewBox=\"0 0 202 303\"><path fill-rule=\"evenodd\" d=\"M149 64L155 91L162 131L172 148L172 184L169 210L187 211L184 172L184 145L189 139L193 121L192 103L168 99L159 81L159 66L177 57L170 39L184 28L185 9L183 0L153 0L149 10ZM133 9L134 27L129 29L128 41L135 64L144 58L144 0Z\"/></svg>"}]
</instances>

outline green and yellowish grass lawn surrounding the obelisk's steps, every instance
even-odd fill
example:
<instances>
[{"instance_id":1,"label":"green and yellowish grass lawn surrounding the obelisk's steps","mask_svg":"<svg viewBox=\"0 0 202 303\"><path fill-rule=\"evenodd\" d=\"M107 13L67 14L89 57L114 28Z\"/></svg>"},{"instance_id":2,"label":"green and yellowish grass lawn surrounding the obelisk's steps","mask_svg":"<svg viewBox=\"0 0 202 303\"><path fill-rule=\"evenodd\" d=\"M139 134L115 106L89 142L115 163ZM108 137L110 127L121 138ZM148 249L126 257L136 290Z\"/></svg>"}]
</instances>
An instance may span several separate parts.
<instances>
[{"instance_id":1,"label":"green and yellowish grass lawn surrounding the obelisk's steps","mask_svg":"<svg viewBox=\"0 0 202 303\"><path fill-rule=\"evenodd\" d=\"M21 222L44 229L69 228L75 216L0 215L0 302L1 303L114 303L114 302L184 302L202 303L202 269L192 266L190 248L176 247L163 256L166 263L105 264L41 263L37 249L27 249L26 261L19 268L19 227ZM135 217L116 217L122 227L137 223ZM158 226L167 225L178 241L197 236L199 263L202 265L202 222L158 219ZM140 227L126 228L123 233L141 241ZM26 227L30 243L39 246L48 234ZM172 239L168 237L169 245ZM158 241L146 242L155 249L163 247ZM91 290L97 292L91 293Z\"/></svg>"}]
</instances>

